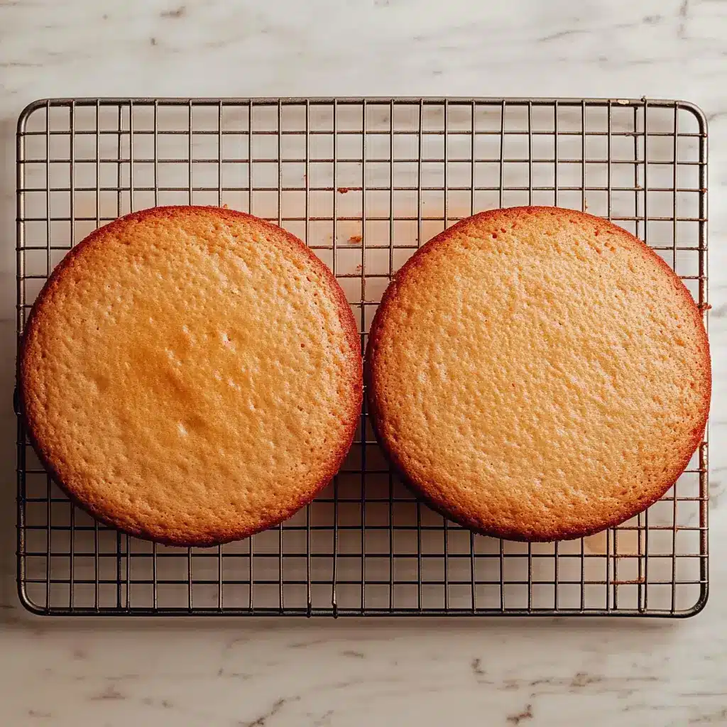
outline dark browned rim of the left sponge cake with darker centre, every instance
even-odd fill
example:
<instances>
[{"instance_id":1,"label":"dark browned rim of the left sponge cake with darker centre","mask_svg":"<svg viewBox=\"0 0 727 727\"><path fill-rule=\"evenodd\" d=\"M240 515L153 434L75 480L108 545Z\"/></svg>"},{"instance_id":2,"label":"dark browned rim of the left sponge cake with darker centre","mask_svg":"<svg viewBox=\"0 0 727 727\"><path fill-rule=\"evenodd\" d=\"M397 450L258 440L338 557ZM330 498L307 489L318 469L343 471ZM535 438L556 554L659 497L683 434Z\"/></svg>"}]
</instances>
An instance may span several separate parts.
<instances>
[{"instance_id":1,"label":"dark browned rim of the left sponge cake with darker centre","mask_svg":"<svg viewBox=\"0 0 727 727\"><path fill-rule=\"evenodd\" d=\"M320 481L318 481L318 483L316 483L316 485L310 489L305 497L301 497L290 507L286 507L284 509L281 508L280 510L278 510L278 512L266 513L268 516L265 519L261 518L254 528L240 528L236 527L234 523L230 523L230 526L227 529L210 531L209 533L204 534L204 537L197 537L194 539L184 537L183 533L180 533L177 537L177 535L169 534L169 531L165 531L164 534L160 534L156 531L147 531L142 528L130 529L127 526L121 527L121 522L113 516L113 513L110 513L108 510L103 510L100 507L96 507L92 503L81 501L81 499L76 497L76 494L70 488L68 488L68 486L65 485L65 483L63 482L63 478L60 475L60 470L54 462L52 453L50 451L47 451L47 449L44 448L42 443L36 437L36 422L33 420L33 417L28 415L27 407L25 406L25 398L29 394L28 389L26 389L28 379L30 379L30 376L28 374L34 363L34 360L31 356L26 356L25 342L28 339L31 331L33 331L33 329L36 329L37 326L41 326L43 323L41 314L38 313L41 301L43 301L45 297L47 297L50 291L55 289L57 286L63 284L66 270L68 270L68 268L70 267L71 262L73 262L73 260L85 248L96 244L97 241L100 240L100 238L108 235L108 233L113 233L113 230L116 227L123 228L129 222L140 222L142 220L150 220L155 217L164 218L177 216L179 214L188 213L190 212L190 210L204 210L204 212L206 212L207 214L217 216L221 220L230 220L230 222L239 222L240 220L244 220L247 224L251 225L254 228L257 228L257 230L260 230L261 232L273 233L278 238L283 238L289 244L298 247L308 257L313 267L316 268L317 272L321 275L322 278L324 278L324 281L326 281L326 283L329 285L332 294L336 299L335 302L337 304L340 321L343 328L345 329L347 348L350 351L350 356L348 358L350 361L350 374L353 382L353 386L350 391L350 397L348 400L348 406L346 407L345 413L345 421L347 423L346 437L342 438L341 441L337 443L337 445L332 446L332 449L334 451L334 457L331 460L331 465L329 466L328 470L326 470L324 476L321 477ZM305 244L292 233L289 233L283 228L279 228L277 225L273 225L272 222L261 220L260 217L255 217L252 214L246 214L246 212L238 212L237 210L233 209L203 205L160 206L152 207L150 209L144 209L140 212L132 212L131 214L124 215L124 217L119 217L119 219L117 220L113 220L113 222L109 222L108 225L103 225L103 227L100 227L92 232L87 238L84 238L84 240L82 240L78 245L69 250L68 254L63 257L63 260L58 263L58 265L55 267L55 269L52 271L51 275L47 279L43 288L41 289L41 292L38 294L35 302L33 303L33 308L31 308L31 313L28 316L27 323L25 324L23 338L20 341L20 346L17 354L17 382L20 402L20 414L23 416L23 420L25 422L28 439L31 442L33 449L36 451L36 454L38 455L41 464L47 470L47 473L50 475L53 481L57 483L60 489L63 490L66 496L71 499L72 502L74 502L76 505L79 505L79 507L86 510L88 513L93 515L93 517L95 517L102 523L105 523L106 525L113 528L120 529L134 537L153 540L154 542L162 543L164 545L178 545L184 547L209 547L213 545L222 545L223 543L231 542L233 540L240 540L265 529L268 529L272 526L275 526L278 523L281 523L282 521L294 515L294 513L296 513L302 507L305 507L305 505L308 505L310 502L312 502L313 499L316 498L318 493L322 489L324 489L324 487L332 480L334 475L340 469L342 462L348 454L351 444L353 443L353 437L356 434L356 427L358 426L358 419L361 416L361 403L363 399L363 380L361 376L361 341L358 334L358 325L356 324L356 318L354 318L353 311L348 304L348 300L346 300L345 293L341 289L341 286L336 280L334 274L328 268L328 266L325 265L324 262L322 262L316 256L316 254L313 253L312 250L305 246Z\"/></svg>"}]
</instances>

